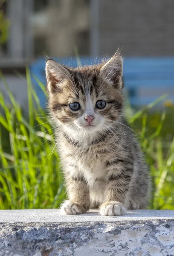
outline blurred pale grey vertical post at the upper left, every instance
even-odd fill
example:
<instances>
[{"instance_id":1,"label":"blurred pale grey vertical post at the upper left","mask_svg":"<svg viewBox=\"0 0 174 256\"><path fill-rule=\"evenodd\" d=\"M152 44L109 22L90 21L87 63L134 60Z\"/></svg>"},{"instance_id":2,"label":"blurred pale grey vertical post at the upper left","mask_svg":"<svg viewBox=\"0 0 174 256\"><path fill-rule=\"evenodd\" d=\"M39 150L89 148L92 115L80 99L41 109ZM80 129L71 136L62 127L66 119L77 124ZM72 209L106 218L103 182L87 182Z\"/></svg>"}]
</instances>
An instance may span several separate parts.
<instances>
[{"instance_id":1,"label":"blurred pale grey vertical post at the upper left","mask_svg":"<svg viewBox=\"0 0 174 256\"><path fill-rule=\"evenodd\" d=\"M33 56L33 0L9 0L7 15L10 21L8 58L26 59Z\"/></svg>"}]
</instances>

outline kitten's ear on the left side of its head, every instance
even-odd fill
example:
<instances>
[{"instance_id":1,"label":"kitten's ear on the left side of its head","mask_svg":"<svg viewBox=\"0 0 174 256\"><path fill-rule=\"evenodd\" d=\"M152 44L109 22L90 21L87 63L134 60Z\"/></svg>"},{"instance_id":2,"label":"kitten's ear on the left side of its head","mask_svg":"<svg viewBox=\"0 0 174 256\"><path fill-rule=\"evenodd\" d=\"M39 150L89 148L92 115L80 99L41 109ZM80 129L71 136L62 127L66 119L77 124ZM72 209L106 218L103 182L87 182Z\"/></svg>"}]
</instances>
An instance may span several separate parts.
<instances>
[{"instance_id":1,"label":"kitten's ear on the left side of its head","mask_svg":"<svg viewBox=\"0 0 174 256\"><path fill-rule=\"evenodd\" d=\"M49 93L60 92L64 80L71 77L70 72L54 60L46 61L45 72Z\"/></svg>"}]
</instances>

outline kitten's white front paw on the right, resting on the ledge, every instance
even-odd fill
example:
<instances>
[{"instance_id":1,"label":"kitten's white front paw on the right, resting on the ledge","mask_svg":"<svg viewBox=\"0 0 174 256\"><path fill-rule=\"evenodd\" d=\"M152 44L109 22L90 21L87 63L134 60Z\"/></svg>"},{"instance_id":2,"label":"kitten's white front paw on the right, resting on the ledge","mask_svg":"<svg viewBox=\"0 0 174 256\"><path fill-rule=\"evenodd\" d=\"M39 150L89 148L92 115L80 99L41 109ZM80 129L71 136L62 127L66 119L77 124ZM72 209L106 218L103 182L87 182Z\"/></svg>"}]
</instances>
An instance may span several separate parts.
<instances>
[{"instance_id":1,"label":"kitten's white front paw on the right, resting on the ledge","mask_svg":"<svg viewBox=\"0 0 174 256\"><path fill-rule=\"evenodd\" d=\"M126 214L126 208L119 202L107 202L101 205L100 214L104 216L119 216Z\"/></svg>"}]
</instances>

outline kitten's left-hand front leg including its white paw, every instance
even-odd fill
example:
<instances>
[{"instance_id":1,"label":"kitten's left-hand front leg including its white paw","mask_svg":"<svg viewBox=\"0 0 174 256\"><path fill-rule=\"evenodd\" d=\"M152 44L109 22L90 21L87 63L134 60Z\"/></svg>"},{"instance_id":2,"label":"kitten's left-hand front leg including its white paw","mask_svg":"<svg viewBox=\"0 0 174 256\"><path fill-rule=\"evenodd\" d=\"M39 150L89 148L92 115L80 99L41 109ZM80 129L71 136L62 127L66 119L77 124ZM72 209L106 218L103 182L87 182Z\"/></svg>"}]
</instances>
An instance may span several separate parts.
<instances>
[{"instance_id":1,"label":"kitten's left-hand front leg including its white paw","mask_svg":"<svg viewBox=\"0 0 174 256\"><path fill-rule=\"evenodd\" d=\"M69 200L61 206L63 214L82 214L90 208L90 194L87 183L83 179L69 177L67 181Z\"/></svg>"}]
</instances>

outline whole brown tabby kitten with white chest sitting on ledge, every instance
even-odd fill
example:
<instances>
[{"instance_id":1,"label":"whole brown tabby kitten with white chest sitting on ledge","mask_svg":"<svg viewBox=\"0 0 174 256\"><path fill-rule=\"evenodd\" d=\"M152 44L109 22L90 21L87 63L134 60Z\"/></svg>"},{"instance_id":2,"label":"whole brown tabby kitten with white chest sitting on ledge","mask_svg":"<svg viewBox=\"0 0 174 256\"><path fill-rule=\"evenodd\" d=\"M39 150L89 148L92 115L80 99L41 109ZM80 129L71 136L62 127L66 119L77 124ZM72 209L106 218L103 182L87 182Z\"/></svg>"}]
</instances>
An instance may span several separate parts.
<instances>
[{"instance_id":1,"label":"whole brown tabby kitten with white chest sitting on ledge","mask_svg":"<svg viewBox=\"0 0 174 256\"><path fill-rule=\"evenodd\" d=\"M139 143L122 116L122 56L75 69L46 62L49 109L55 123L69 200L64 214L100 208L124 215L147 206L150 181Z\"/></svg>"}]
</instances>

